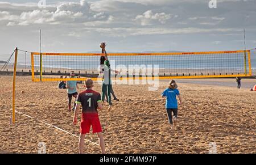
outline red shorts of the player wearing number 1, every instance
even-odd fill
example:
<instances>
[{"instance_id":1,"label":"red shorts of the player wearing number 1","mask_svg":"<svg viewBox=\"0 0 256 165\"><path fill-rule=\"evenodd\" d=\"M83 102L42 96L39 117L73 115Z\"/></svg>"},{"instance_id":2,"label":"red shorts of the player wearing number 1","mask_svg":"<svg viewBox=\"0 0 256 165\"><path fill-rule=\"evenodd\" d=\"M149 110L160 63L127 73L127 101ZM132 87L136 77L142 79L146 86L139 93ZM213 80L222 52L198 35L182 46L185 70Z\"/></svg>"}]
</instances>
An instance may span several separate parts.
<instances>
[{"instance_id":1,"label":"red shorts of the player wearing number 1","mask_svg":"<svg viewBox=\"0 0 256 165\"><path fill-rule=\"evenodd\" d=\"M101 122L98 117L98 113L82 113L80 123L80 133L86 134L90 132L90 126L92 125L93 133L102 132Z\"/></svg>"}]
</instances>

